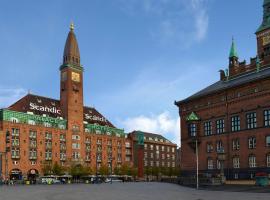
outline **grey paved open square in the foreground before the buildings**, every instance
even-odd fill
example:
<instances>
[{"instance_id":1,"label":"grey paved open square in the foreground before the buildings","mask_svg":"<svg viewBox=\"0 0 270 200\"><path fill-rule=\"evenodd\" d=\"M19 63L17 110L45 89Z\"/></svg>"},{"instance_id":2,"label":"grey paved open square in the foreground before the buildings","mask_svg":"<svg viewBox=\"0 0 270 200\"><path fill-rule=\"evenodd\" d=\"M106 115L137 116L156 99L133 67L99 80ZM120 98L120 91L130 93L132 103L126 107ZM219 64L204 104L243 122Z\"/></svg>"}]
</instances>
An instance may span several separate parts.
<instances>
[{"instance_id":1,"label":"grey paved open square in the foreground before the buildings","mask_svg":"<svg viewBox=\"0 0 270 200\"><path fill-rule=\"evenodd\" d=\"M206 191L167 183L0 186L0 200L269 200L269 193Z\"/></svg>"}]
</instances>

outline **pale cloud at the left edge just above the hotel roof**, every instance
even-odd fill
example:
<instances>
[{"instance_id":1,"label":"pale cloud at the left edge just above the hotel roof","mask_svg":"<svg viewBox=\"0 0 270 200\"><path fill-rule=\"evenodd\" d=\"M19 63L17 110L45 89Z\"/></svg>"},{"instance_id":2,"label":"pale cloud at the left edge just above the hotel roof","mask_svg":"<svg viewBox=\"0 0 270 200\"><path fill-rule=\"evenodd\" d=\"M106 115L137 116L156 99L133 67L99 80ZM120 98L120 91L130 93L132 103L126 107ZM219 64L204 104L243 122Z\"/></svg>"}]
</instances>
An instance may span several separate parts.
<instances>
[{"instance_id":1,"label":"pale cloud at the left edge just above the hotel roof","mask_svg":"<svg viewBox=\"0 0 270 200\"><path fill-rule=\"evenodd\" d=\"M25 94L26 90L23 88L0 87L0 108L10 106Z\"/></svg>"}]
</instances>

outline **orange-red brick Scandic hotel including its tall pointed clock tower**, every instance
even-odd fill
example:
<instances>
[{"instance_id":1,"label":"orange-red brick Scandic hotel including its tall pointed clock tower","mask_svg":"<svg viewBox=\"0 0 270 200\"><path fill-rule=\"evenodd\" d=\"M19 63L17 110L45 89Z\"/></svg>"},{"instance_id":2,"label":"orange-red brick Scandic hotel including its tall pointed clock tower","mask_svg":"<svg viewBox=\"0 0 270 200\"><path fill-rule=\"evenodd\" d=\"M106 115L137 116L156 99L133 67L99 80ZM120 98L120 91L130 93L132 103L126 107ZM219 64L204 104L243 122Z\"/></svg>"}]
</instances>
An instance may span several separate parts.
<instances>
[{"instance_id":1,"label":"orange-red brick Scandic hotel including its tall pointed clock tower","mask_svg":"<svg viewBox=\"0 0 270 200\"><path fill-rule=\"evenodd\" d=\"M124 130L84 105L83 71L71 25L60 66L60 99L28 94L0 110L0 176L36 177L44 163L97 170L126 162Z\"/></svg>"}]
</instances>

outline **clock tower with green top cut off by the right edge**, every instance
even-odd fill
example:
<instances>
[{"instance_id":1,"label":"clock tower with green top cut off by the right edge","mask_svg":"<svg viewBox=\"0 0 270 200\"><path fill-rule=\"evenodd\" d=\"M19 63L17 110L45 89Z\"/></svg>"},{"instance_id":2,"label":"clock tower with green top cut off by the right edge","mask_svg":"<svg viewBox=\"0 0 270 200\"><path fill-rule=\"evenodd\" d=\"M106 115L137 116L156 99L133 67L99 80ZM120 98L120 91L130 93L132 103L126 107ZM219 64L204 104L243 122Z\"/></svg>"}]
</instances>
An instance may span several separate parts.
<instances>
[{"instance_id":1,"label":"clock tower with green top cut off by the right edge","mask_svg":"<svg viewBox=\"0 0 270 200\"><path fill-rule=\"evenodd\" d=\"M270 0L263 3L263 22L257 32L257 53L263 64L270 63Z\"/></svg>"}]
</instances>

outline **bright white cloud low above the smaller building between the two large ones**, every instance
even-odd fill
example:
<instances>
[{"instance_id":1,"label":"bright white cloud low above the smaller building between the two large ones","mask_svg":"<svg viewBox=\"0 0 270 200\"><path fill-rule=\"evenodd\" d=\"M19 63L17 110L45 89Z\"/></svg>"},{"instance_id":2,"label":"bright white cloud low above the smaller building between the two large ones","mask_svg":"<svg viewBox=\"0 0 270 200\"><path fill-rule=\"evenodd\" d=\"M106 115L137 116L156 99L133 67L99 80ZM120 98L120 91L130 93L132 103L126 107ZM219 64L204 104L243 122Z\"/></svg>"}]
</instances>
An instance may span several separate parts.
<instances>
[{"instance_id":1,"label":"bright white cloud low above the smaller building between the two large ones","mask_svg":"<svg viewBox=\"0 0 270 200\"><path fill-rule=\"evenodd\" d=\"M180 119L172 117L168 111L158 115L127 118L120 124L126 132L141 130L161 134L178 146L180 145Z\"/></svg>"}]
</instances>

